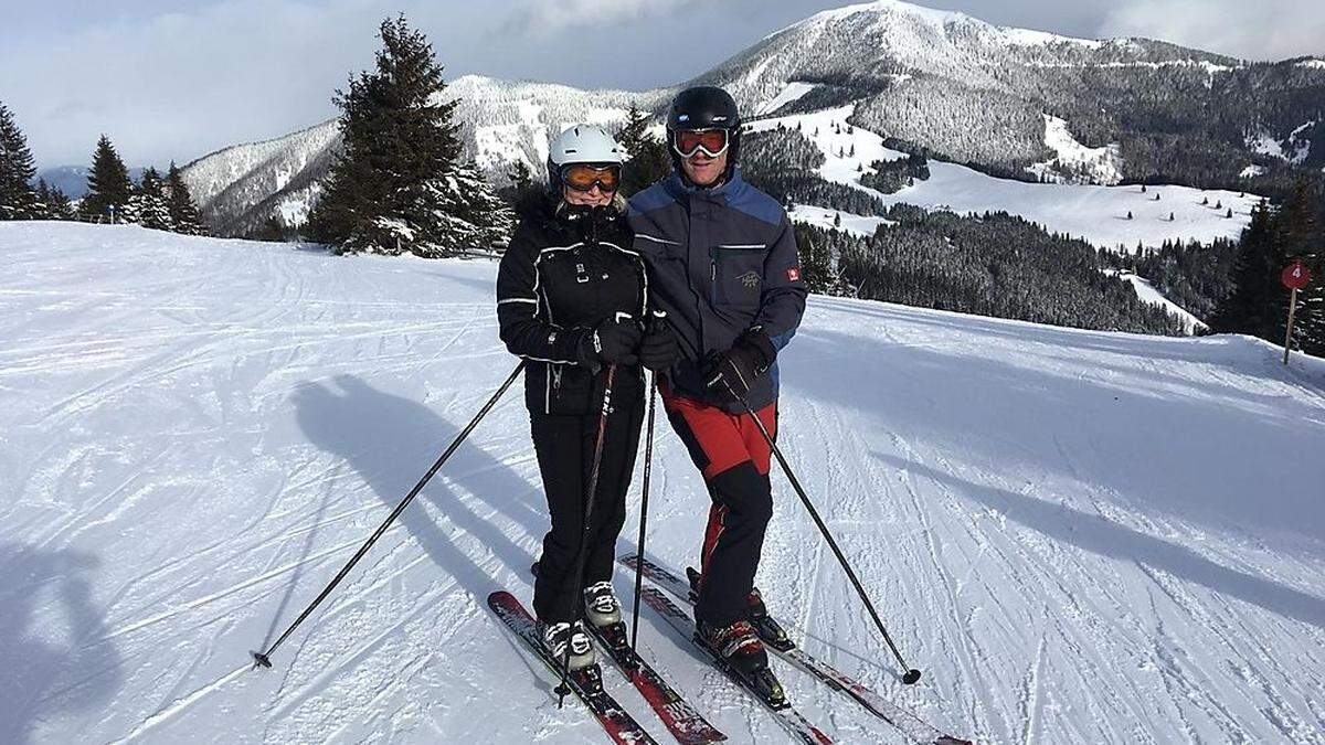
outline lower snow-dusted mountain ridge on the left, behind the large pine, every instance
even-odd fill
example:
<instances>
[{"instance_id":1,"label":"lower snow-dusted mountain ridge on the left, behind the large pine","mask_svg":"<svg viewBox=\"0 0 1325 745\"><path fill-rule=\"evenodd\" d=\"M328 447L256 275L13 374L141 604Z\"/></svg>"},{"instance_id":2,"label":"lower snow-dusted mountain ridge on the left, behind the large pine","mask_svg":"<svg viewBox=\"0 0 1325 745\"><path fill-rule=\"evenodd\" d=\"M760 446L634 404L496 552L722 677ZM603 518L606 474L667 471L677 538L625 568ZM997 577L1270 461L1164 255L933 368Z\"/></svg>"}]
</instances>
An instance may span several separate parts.
<instances>
[{"instance_id":1,"label":"lower snow-dusted mountain ridge on the left, behind the large pine","mask_svg":"<svg viewBox=\"0 0 1325 745\"><path fill-rule=\"evenodd\" d=\"M662 106L665 91L579 90L564 85L456 78L444 95L460 101L466 155L498 180L515 160L543 171L547 143L576 122L616 126L632 103ZM184 180L213 231L249 235L276 215L302 223L339 146L331 119L281 138L219 150L184 167Z\"/></svg>"}]
</instances>

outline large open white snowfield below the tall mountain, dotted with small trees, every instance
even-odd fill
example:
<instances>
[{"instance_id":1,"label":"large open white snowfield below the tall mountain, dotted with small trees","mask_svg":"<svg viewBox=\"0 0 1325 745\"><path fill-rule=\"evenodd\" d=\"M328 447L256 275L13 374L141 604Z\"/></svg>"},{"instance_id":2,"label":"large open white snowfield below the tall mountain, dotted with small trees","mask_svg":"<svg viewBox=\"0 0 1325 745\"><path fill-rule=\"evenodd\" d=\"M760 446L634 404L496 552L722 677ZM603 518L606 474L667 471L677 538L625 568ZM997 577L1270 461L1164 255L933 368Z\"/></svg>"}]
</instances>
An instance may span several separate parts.
<instances>
[{"instance_id":1,"label":"large open white snowfield below the tall mountain, dotted with small trees","mask_svg":"<svg viewBox=\"0 0 1325 745\"><path fill-rule=\"evenodd\" d=\"M800 133L824 154L825 163L819 174L825 180L859 188L884 204L905 203L958 213L1003 211L1100 248L1134 249L1137 245L1158 247L1165 241L1236 239L1251 223L1251 211L1260 201L1253 194L1183 186L1153 186L1142 192L1140 186L1027 183L998 179L942 160L929 162L928 180L916 182L897 194L881 194L861 186L860 168L868 171L874 160L896 160L906 158L906 154L885 147L876 133L848 127L847 121L853 111L853 106L843 106L759 119L751 123L751 131L775 130L779 125L792 130L799 126ZM1215 204L1222 207L1216 209ZM1226 217L1230 208L1234 216Z\"/></svg>"}]
</instances>

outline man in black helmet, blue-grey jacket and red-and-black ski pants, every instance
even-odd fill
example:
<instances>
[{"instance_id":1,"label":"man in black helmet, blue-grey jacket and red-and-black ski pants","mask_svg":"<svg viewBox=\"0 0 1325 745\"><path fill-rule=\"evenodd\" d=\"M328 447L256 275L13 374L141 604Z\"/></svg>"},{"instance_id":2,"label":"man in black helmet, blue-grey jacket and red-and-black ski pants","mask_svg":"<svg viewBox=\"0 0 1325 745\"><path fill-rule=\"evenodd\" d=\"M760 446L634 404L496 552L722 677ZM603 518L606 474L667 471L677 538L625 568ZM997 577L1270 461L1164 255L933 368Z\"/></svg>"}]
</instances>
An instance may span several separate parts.
<instances>
[{"instance_id":1,"label":"man in black helmet, blue-grey jacket and red-and-black ski pants","mask_svg":"<svg viewBox=\"0 0 1325 745\"><path fill-rule=\"evenodd\" d=\"M778 426L778 350L806 308L795 233L778 200L741 178L741 114L725 90L681 91L666 122L673 172L631 199L635 249L681 359L660 386L672 427L713 500L701 553L701 640L747 677L767 668L751 627L772 517L770 433ZM749 406L749 410L746 408Z\"/></svg>"}]
</instances>

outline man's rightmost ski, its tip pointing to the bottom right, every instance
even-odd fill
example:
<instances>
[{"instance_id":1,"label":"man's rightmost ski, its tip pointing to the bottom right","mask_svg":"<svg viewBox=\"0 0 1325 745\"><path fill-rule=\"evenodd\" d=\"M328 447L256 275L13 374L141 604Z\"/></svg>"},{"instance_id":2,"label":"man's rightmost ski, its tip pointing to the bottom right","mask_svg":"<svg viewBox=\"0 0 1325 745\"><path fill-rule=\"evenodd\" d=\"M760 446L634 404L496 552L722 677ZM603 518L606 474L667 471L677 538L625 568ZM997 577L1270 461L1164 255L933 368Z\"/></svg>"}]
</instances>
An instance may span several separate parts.
<instances>
[{"instance_id":1,"label":"man's rightmost ski, its tip pointing to the bottom right","mask_svg":"<svg viewBox=\"0 0 1325 745\"><path fill-rule=\"evenodd\" d=\"M635 558L635 554L625 554L619 561L633 570ZM694 603L694 590L690 587L690 582L681 579L672 571L648 559L644 559L643 573L644 577L648 577L649 581L668 593L688 603ZM953 737L942 732L913 712L898 707L863 683L796 647L772 616L753 622L753 626L761 638L765 639L765 644L778 656L811 677L823 681L833 691L856 701L865 711L893 725L918 745L971 745L970 740L962 740L961 737Z\"/></svg>"}]
</instances>

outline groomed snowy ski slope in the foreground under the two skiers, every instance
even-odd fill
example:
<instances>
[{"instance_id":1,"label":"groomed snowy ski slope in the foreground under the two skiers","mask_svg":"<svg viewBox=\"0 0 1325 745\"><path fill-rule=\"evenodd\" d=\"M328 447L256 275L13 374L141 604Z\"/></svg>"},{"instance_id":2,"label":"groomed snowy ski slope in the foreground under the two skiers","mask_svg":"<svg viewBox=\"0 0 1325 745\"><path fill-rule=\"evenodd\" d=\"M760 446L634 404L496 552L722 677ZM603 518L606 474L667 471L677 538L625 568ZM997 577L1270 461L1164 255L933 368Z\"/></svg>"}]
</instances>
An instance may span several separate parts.
<instances>
[{"instance_id":1,"label":"groomed snowy ski slope in the foreground under the two skiers","mask_svg":"<svg viewBox=\"0 0 1325 745\"><path fill-rule=\"evenodd\" d=\"M249 669L514 366L492 264L15 223L0 261L0 741L606 741L484 606L529 598L546 522L518 395ZM778 476L759 578L812 654L979 742L1325 742L1325 362L815 297L783 384L926 675ZM680 565L708 498L660 432ZM733 742L780 741L647 608L640 640ZM839 741L900 741L778 669Z\"/></svg>"}]
</instances>

